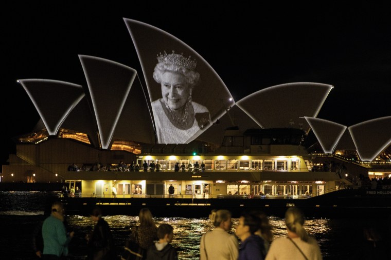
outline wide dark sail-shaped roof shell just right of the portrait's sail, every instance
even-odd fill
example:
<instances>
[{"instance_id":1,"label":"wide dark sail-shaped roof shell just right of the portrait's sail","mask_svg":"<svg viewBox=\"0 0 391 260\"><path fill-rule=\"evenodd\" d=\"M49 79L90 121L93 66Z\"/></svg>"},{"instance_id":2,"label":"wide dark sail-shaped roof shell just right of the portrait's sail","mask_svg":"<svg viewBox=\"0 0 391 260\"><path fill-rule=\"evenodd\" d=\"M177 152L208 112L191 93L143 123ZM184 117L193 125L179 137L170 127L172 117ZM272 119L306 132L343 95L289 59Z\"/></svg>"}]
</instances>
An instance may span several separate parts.
<instances>
[{"instance_id":1,"label":"wide dark sail-shaped roof shell just right of the portrait's sail","mask_svg":"<svg viewBox=\"0 0 391 260\"><path fill-rule=\"evenodd\" d=\"M303 129L304 116L316 117L331 89L332 85L321 83L281 84L252 93L236 105L261 128Z\"/></svg>"}]
</instances>

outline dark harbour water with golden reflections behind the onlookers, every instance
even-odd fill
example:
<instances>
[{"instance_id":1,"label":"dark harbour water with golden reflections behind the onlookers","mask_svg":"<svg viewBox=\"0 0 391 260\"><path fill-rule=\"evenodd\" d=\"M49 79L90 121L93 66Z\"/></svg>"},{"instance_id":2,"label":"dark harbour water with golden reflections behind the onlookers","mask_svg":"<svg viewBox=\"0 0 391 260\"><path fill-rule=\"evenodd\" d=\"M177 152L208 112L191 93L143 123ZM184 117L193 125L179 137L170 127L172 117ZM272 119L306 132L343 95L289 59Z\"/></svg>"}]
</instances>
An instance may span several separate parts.
<instances>
[{"instance_id":1,"label":"dark harbour water with golden reflections behind the onlookers","mask_svg":"<svg viewBox=\"0 0 391 260\"><path fill-rule=\"evenodd\" d=\"M44 204L49 192L1 192L0 191L0 259L37 259L31 249L32 231L45 218ZM138 224L137 216L108 215L104 217L112 228L117 255L129 236L131 225ZM269 218L275 227L274 237L286 236L283 219ZM69 245L72 259L86 259L85 233L93 228L86 216L67 216L75 236ZM379 227L386 238L391 233L389 216L374 216L371 219L307 219L306 230L314 236L321 247L324 259L357 259L361 250L362 228L365 225ZM177 248L180 259L199 259L201 235L213 227L205 218L155 218L157 225L169 223L174 227L172 245ZM238 219L233 219L234 233ZM217 260L217 259L216 259Z\"/></svg>"}]
</instances>

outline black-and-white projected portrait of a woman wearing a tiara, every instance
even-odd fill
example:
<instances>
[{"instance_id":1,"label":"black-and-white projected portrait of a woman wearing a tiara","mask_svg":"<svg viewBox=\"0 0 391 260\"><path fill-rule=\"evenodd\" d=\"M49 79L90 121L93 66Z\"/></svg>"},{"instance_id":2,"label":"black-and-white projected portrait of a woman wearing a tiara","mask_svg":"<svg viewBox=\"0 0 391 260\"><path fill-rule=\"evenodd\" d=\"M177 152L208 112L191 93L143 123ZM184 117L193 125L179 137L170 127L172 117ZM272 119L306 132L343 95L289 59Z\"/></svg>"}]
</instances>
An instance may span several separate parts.
<instances>
[{"instance_id":1,"label":"black-and-white projected portrait of a woman wearing a tiara","mask_svg":"<svg viewBox=\"0 0 391 260\"><path fill-rule=\"evenodd\" d=\"M192 101L200 73L197 61L174 51L157 55L153 72L162 97L152 102L159 143L185 144L210 124L209 110Z\"/></svg>"}]
</instances>

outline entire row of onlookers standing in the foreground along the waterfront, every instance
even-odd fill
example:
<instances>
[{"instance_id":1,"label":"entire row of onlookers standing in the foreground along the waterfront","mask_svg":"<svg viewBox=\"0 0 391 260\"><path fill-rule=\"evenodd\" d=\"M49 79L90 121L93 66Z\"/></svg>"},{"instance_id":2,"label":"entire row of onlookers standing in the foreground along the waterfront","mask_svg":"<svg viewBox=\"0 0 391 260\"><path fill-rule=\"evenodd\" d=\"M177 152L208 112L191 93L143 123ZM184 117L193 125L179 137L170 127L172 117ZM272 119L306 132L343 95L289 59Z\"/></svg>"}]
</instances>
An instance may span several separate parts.
<instances>
[{"instance_id":1,"label":"entire row of onlookers standing in the foreground along the waterfront","mask_svg":"<svg viewBox=\"0 0 391 260\"><path fill-rule=\"evenodd\" d=\"M111 227L102 217L101 209L94 207L90 216L94 228L85 235L87 259L119 259ZM148 208L141 209L138 218L139 225L131 228L120 259L178 259L176 249L170 244L173 227L166 223L157 227ZM243 211L235 231L229 210L212 210L209 219L215 228L201 237L201 260L322 259L321 249L303 227L305 217L296 207L288 208L285 214L287 236L276 239L268 217L261 211ZM37 225L33 250L42 259L66 259L74 234L67 227L63 204L55 202L50 216Z\"/></svg>"}]
</instances>

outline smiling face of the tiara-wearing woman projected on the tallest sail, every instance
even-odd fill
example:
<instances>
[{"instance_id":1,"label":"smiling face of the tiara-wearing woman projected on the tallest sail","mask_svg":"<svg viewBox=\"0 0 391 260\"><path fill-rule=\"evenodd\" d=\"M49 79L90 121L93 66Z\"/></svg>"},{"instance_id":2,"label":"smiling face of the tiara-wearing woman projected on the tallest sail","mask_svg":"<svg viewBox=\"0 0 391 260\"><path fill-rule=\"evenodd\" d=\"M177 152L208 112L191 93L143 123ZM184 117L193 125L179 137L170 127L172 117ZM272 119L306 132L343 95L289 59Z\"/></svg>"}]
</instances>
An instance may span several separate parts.
<instances>
[{"instance_id":1,"label":"smiling face of the tiara-wearing woman projected on the tallest sail","mask_svg":"<svg viewBox=\"0 0 391 260\"><path fill-rule=\"evenodd\" d=\"M190 95L186 77L180 73L166 71L162 75L162 97L170 109L183 107Z\"/></svg>"}]
</instances>

